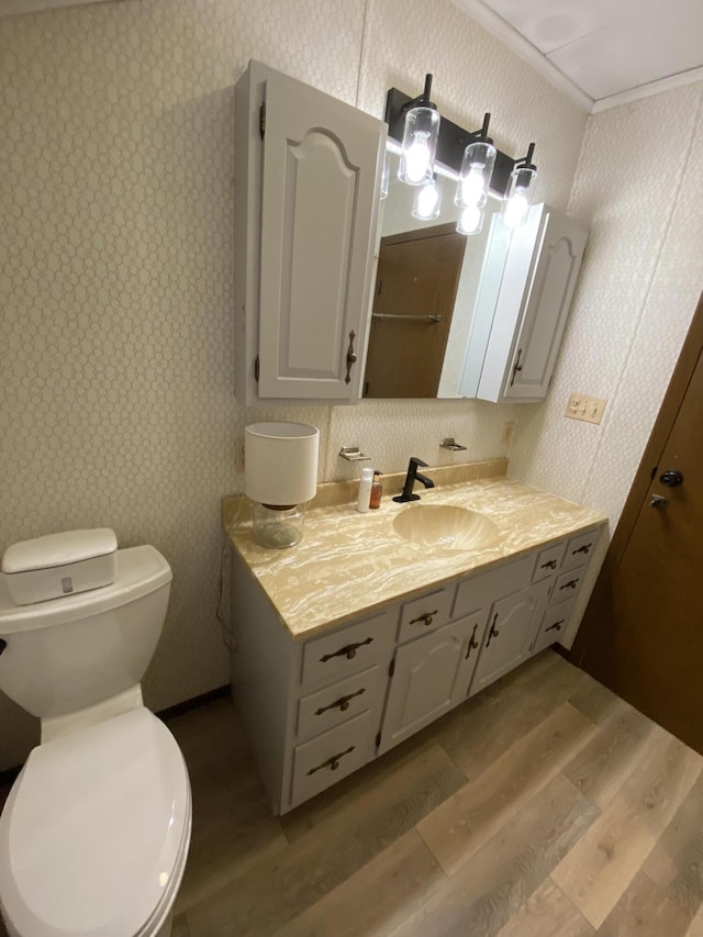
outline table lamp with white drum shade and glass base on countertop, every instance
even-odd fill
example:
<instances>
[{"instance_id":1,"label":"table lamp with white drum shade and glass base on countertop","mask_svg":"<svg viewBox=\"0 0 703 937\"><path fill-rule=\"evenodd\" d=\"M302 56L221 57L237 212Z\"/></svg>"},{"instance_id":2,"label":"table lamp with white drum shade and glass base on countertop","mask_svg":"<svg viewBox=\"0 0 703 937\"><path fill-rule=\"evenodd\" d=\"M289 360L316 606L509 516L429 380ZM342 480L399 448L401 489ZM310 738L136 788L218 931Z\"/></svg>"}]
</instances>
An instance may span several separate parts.
<instances>
[{"instance_id":1,"label":"table lamp with white drum shade and glass base on countertop","mask_svg":"<svg viewBox=\"0 0 703 937\"><path fill-rule=\"evenodd\" d=\"M254 502L252 536L263 547L303 538L305 502L317 491L320 431L304 423L244 427L244 492Z\"/></svg>"}]
</instances>

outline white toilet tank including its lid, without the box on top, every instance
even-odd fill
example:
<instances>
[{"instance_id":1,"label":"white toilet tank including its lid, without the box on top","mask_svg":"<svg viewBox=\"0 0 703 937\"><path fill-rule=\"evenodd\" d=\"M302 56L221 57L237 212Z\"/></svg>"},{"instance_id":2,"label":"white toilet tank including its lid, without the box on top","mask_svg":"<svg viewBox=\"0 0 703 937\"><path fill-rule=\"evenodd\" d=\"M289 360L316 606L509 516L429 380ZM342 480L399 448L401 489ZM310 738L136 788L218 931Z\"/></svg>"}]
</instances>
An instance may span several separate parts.
<instances>
[{"instance_id":1,"label":"white toilet tank including its lid, without the box on top","mask_svg":"<svg viewBox=\"0 0 703 937\"><path fill-rule=\"evenodd\" d=\"M18 605L0 573L0 690L47 718L140 683L164 626L171 578L158 550L132 547L116 550L112 584Z\"/></svg>"}]
</instances>

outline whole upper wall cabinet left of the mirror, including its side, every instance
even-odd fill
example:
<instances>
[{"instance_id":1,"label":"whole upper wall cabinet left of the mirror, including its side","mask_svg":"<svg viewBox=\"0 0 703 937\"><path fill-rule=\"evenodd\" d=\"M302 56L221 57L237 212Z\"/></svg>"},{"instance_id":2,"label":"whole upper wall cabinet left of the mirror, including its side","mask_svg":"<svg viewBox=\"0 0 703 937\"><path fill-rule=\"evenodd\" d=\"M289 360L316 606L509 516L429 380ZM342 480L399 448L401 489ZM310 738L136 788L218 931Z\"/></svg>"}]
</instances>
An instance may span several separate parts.
<instances>
[{"instance_id":1,"label":"whole upper wall cabinet left of the mirror, including its side","mask_svg":"<svg viewBox=\"0 0 703 937\"><path fill-rule=\"evenodd\" d=\"M235 89L235 394L360 395L386 124L250 62Z\"/></svg>"}]
</instances>

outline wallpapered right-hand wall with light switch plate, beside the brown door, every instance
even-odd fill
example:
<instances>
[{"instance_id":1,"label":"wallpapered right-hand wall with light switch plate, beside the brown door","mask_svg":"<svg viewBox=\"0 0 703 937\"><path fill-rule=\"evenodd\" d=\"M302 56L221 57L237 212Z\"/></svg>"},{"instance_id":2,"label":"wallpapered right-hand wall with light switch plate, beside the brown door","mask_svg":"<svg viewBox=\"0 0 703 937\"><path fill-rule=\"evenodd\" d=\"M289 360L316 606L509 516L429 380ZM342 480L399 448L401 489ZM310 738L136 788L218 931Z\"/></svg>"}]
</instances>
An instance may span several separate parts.
<instances>
[{"instance_id":1,"label":"wallpapered right-hand wall with light switch plate, beside the brown door","mask_svg":"<svg viewBox=\"0 0 703 937\"><path fill-rule=\"evenodd\" d=\"M599 507L611 529L703 288L702 113L698 82L589 119L569 202L588 253L551 391L520 409L510 453L511 475ZM563 419L571 391L609 400L601 426Z\"/></svg>"}]
</instances>

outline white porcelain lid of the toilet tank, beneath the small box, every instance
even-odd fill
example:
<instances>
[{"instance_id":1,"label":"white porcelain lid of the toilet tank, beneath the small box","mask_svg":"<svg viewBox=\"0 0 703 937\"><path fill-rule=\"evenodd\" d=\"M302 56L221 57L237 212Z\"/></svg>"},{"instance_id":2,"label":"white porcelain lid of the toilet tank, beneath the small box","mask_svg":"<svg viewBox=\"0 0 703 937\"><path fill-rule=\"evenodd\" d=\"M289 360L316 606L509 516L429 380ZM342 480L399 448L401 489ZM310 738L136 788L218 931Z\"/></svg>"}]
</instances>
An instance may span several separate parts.
<instances>
[{"instance_id":1,"label":"white porcelain lid of the toilet tank, beneath the small box","mask_svg":"<svg viewBox=\"0 0 703 937\"><path fill-rule=\"evenodd\" d=\"M48 599L34 605L16 605L10 595L7 576L0 572L0 636L7 637L10 634L46 628L114 611L167 585L172 579L168 561L155 547L118 550L115 558L118 571L111 585Z\"/></svg>"}]
</instances>

